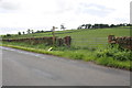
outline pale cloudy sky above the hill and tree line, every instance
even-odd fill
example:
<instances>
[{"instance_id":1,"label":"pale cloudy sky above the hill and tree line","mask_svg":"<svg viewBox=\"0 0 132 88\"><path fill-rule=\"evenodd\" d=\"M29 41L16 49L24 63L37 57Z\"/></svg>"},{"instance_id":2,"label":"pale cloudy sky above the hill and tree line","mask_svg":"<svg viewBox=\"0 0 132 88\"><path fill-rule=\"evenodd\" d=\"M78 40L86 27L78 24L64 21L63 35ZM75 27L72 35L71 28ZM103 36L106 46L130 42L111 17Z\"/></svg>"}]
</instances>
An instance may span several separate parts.
<instances>
[{"instance_id":1,"label":"pale cloudy sky above the hill and tree line","mask_svg":"<svg viewBox=\"0 0 132 88\"><path fill-rule=\"evenodd\" d=\"M0 34L130 23L131 0L0 0Z\"/></svg>"}]
</instances>

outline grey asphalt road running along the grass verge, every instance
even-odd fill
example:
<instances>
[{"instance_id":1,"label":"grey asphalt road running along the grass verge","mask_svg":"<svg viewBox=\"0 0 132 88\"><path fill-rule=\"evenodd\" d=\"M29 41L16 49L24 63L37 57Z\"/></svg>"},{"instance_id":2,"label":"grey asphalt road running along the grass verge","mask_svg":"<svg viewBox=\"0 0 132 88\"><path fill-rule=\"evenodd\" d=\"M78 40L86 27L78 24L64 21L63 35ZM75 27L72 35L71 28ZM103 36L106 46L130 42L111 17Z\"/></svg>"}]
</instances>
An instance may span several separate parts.
<instances>
[{"instance_id":1,"label":"grey asphalt road running along the grass verge","mask_svg":"<svg viewBox=\"0 0 132 88\"><path fill-rule=\"evenodd\" d=\"M3 86L130 86L130 72L0 47Z\"/></svg>"}]
</instances>

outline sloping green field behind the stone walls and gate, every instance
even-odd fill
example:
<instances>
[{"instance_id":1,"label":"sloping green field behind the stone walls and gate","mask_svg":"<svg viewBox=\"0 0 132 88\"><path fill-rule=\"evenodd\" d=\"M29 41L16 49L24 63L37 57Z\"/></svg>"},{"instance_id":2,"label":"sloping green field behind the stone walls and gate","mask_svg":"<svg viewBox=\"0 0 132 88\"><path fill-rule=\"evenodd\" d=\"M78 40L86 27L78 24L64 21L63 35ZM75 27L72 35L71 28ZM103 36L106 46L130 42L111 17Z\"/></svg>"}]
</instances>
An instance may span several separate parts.
<instances>
[{"instance_id":1,"label":"sloping green field behind the stone walls and gate","mask_svg":"<svg viewBox=\"0 0 132 88\"><path fill-rule=\"evenodd\" d=\"M76 47L98 47L106 46L108 44L108 35L116 36L130 36L130 29L128 28L113 28L113 29L97 29L97 30L67 30L56 31L56 36L72 36L72 46ZM52 36L51 32L47 33L34 33L24 35L12 35L11 37L3 38L22 38L22 37L43 37Z\"/></svg>"}]
</instances>

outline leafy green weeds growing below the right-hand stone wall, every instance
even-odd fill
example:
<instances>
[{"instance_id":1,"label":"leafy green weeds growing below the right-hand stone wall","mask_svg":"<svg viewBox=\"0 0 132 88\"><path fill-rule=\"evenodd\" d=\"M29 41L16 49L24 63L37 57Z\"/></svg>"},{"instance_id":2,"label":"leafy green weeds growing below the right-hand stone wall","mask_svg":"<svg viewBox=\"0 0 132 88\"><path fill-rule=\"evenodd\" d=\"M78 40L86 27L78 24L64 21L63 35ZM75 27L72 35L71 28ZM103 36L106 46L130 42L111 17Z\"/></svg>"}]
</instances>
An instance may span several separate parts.
<instances>
[{"instance_id":1,"label":"leafy green weeds growing below the right-hand stone wall","mask_svg":"<svg viewBox=\"0 0 132 88\"><path fill-rule=\"evenodd\" d=\"M131 51L120 50L116 47L108 47L106 50L98 50L96 52L96 57L112 57L117 61L132 61Z\"/></svg>"}]
</instances>

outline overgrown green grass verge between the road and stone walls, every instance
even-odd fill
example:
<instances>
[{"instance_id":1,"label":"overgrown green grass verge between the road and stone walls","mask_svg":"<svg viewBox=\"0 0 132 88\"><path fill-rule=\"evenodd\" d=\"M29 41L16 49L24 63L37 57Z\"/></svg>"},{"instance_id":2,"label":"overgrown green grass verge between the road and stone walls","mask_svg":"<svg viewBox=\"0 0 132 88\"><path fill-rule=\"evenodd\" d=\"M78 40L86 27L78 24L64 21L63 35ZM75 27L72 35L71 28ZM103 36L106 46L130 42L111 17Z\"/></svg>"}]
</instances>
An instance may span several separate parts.
<instances>
[{"instance_id":1,"label":"overgrown green grass verge between the road and stone walls","mask_svg":"<svg viewBox=\"0 0 132 88\"><path fill-rule=\"evenodd\" d=\"M99 65L121 68L127 70L132 70L131 65L131 51L121 51L119 48L113 47L100 47L98 50L88 50L88 48L76 48L76 47L55 47L55 46L45 46L43 44L30 45L25 43L3 43L2 46L19 48L23 51L55 55L59 57L78 59L85 62L94 62ZM53 47L52 51L48 51L50 47ZM125 53L124 53L125 52ZM118 53L123 54L119 55ZM116 56L117 55L117 56Z\"/></svg>"}]
</instances>

